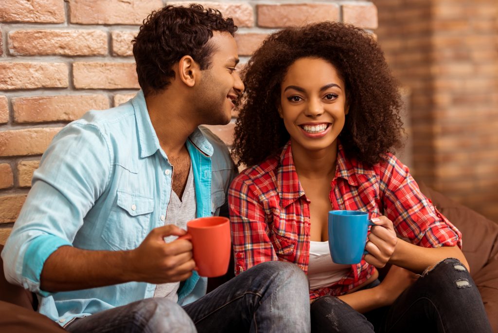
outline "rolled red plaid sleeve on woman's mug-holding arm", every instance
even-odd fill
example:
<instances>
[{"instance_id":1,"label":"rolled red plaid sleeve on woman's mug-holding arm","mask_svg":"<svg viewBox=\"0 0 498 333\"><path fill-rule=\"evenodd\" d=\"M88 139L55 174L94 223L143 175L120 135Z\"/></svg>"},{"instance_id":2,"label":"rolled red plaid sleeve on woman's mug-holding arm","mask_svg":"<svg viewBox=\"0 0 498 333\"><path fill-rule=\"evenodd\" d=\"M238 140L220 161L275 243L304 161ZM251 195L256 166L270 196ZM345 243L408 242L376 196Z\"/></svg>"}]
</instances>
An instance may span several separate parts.
<instances>
[{"instance_id":1,"label":"rolled red plaid sleeve on woman's mug-holding arm","mask_svg":"<svg viewBox=\"0 0 498 333\"><path fill-rule=\"evenodd\" d=\"M384 214L401 237L423 247L462 248L460 231L422 194L407 166L389 154L379 168Z\"/></svg>"}]
</instances>

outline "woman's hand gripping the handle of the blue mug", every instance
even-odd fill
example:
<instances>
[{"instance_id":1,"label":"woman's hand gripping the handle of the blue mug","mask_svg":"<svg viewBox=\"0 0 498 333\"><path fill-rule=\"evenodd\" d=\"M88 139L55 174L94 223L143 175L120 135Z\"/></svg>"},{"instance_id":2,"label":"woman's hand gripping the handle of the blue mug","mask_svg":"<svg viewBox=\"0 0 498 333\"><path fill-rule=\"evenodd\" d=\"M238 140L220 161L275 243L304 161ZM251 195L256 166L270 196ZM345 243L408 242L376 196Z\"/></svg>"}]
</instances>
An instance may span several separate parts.
<instances>
[{"instance_id":1,"label":"woman's hand gripping the handle of the blue mug","mask_svg":"<svg viewBox=\"0 0 498 333\"><path fill-rule=\"evenodd\" d=\"M365 255L365 261L369 264L382 268L389 261L396 248L398 238L394 232L392 221L385 216L373 218L375 225L370 229L365 250L369 253Z\"/></svg>"}]
</instances>

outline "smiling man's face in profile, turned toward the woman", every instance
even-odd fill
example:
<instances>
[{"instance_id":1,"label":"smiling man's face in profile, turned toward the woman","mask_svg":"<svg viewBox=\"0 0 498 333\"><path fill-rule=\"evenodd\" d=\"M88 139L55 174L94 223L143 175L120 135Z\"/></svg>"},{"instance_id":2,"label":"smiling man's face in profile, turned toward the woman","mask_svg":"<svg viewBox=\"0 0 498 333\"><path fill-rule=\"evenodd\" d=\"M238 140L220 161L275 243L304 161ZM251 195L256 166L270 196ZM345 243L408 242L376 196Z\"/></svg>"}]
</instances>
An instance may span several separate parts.
<instances>
[{"instance_id":1,"label":"smiling man's face in profile, turned toward the woman","mask_svg":"<svg viewBox=\"0 0 498 333\"><path fill-rule=\"evenodd\" d=\"M233 100L244 91L235 66L239 62L237 44L228 32L214 31L210 42L214 46L210 68L201 71L195 98L202 124L226 125L232 118Z\"/></svg>"}]
</instances>

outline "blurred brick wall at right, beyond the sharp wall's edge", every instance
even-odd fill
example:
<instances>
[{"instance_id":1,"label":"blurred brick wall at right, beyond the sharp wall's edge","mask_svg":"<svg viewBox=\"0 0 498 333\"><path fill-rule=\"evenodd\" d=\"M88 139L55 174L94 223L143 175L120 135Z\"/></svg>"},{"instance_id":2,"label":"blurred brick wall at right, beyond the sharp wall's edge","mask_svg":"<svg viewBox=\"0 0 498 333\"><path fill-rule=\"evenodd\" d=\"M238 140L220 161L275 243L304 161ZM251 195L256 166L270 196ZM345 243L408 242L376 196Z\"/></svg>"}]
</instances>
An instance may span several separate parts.
<instances>
[{"instance_id":1,"label":"blurred brick wall at right, beyond the sharp wall's edge","mask_svg":"<svg viewBox=\"0 0 498 333\"><path fill-rule=\"evenodd\" d=\"M411 91L413 173L498 222L498 2L373 2Z\"/></svg>"}]
</instances>

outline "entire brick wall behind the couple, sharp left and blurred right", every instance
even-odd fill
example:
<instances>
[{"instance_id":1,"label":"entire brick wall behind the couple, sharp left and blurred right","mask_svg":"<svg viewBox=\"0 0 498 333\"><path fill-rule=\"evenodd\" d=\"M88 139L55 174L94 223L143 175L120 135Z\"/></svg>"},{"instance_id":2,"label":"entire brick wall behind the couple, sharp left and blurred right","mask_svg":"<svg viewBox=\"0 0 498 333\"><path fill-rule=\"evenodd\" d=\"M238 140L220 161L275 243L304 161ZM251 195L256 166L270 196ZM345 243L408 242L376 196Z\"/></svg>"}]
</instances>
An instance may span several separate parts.
<instances>
[{"instance_id":1,"label":"entire brick wall behind the couple, sharp left and blurred right","mask_svg":"<svg viewBox=\"0 0 498 333\"><path fill-rule=\"evenodd\" d=\"M138 89L130 41L142 20L154 8L189 2L0 0L0 243L61 127ZM495 2L199 3L239 25L242 64L280 27L335 20L375 33L403 86L409 140L401 160L430 186L498 221ZM228 145L233 116L230 125L213 127Z\"/></svg>"}]
</instances>

